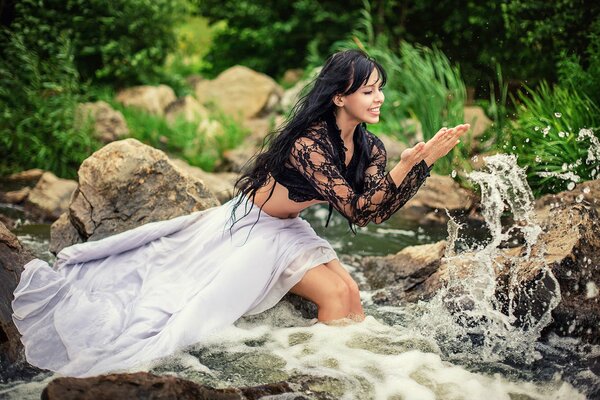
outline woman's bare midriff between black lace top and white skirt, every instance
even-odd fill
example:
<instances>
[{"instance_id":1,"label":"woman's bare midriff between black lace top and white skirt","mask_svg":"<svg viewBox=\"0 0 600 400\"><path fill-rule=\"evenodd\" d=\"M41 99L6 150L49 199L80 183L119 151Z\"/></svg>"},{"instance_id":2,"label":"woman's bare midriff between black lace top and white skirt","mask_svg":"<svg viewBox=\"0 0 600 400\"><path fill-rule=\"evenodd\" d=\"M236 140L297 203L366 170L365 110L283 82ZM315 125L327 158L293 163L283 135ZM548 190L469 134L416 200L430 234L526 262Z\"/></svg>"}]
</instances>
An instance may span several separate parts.
<instances>
[{"instance_id":1,"label":"woman's bare midriff between black lace top and white skirt","mask_svg":"<svg viewBox=\"0 0 600 400\"><path fill-rule=\"evenodd\" d=\"M271 189L275 185L271 198ZM268 200L267 200L268 199ZM254 204L262 207L263 212L277 218L295 218L302 210L315 204L326 203L323 200L296 202L288 197L288 190L272 177L267 184L256 192Z\"/></svg>"}]
</instances>

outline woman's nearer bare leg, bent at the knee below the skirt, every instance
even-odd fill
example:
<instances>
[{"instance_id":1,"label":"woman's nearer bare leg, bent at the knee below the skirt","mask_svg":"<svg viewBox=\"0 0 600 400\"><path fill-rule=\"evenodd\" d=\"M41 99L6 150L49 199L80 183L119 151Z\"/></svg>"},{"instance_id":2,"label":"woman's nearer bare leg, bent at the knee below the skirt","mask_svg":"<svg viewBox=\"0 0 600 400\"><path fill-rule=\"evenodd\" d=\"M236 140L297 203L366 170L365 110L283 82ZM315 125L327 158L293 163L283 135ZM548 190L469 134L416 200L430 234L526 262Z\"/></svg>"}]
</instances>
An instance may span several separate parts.
<instances>
[{"instance_id":1,"label":"woman's nearer bare leg, bent at the knee below the skirt","mask_svg":"<svg viewBox=\"0 0 600 400\"><path fill-rule=\"evenodd\" d=\"M344 279L325 264L309 270L290 290L317 305L321 322L346 318L350 314L350 291Z\"/></svg>"}]
</instances>

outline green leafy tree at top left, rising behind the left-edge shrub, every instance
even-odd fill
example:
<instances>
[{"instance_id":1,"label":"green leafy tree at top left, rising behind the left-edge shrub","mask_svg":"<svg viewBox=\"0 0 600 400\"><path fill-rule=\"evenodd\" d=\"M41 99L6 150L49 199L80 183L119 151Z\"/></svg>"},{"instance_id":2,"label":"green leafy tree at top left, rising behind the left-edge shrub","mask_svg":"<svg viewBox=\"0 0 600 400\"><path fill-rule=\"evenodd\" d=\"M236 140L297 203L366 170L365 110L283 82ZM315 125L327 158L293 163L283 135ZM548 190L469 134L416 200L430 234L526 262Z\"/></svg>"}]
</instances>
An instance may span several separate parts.
<instances>
[{"instance_id":1,"label":"green leafy tree at top left, rising behind the left-edge shrub","mask_svg":"<svg viewBox=\"0 0 600 400\"><path fill-rule=\"evenodd\" d=\"M42 59L58 54L58 37L69 37L83 80L120 86L163 78L183 7L171 0L21 0L14 11L9 30Z\"/></svg>"}]
</instances>

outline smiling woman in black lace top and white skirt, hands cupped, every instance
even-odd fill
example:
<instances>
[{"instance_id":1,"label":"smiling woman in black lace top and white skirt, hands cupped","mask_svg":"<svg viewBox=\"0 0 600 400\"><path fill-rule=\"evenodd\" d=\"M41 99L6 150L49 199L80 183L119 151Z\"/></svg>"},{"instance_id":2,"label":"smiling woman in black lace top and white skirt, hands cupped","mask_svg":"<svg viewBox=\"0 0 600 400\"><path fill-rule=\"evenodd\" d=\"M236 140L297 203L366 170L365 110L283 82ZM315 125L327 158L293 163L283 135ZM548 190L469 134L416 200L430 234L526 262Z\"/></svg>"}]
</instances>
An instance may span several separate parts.
<instances>
[{"instance_id":1,"label":"smiling woman in black lace top and white skirt, hands cupped","mask_svg":"<svg viewBox=\"0 0 600 400\"><path fill-rule=\"evenodd\" d=\"M67 247L54 268L29 262L13 301L27 360L72 376L131 368L287 291L314 301L322 322L362 320L356 283L298 214L328 202L350 223L382 222L468 129L440 130L386 174L364 127L379 120L385 79L364 53L334 54L232 201Z\"/></svg>"}]
</instances>

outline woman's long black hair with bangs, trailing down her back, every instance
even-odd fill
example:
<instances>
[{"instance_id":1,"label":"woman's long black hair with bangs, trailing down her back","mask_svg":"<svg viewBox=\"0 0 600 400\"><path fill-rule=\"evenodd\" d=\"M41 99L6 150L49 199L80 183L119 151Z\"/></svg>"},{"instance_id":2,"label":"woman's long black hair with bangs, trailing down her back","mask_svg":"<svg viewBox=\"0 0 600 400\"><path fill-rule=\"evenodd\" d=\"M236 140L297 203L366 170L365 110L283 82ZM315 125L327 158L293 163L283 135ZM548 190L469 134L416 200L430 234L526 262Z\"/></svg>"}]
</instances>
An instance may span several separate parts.
<instances>
[{"instance_id":1,"label":"woman's long black hair with bangs, trailing down her back","mask_svg":"<svg viewBox=\"0 0 600 400\"><path fill-rule=\"evenodd\" d=\"M336 107L333 103L334 96L347 96L356 92L367 82L374 69L377 69L381 86L384 86L387 75L383 67L360 50L341 51L327 59L318 76L307 85L303 91L305 94L292 108L287 121L267 136L261 151L248 162L249 168L246 168L237 180L235 184L237 198L233 204L232 217L242 201L245 200L246 204L249 200L254 203L256 192L267 183L272 171L281 169L288 161L294 142L318 121L334 113ZM364 171L370 161L366 138L362 137L360 140L358 167L355 176L351 177L349 182L359 191L362 190ZM273 190L269 199L272 194ZM248 213L250 209L246 207L244 216Z\"/></svg>"}]
</instances>

